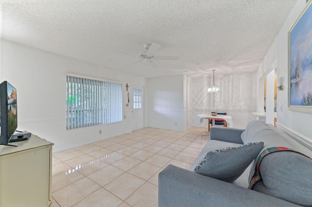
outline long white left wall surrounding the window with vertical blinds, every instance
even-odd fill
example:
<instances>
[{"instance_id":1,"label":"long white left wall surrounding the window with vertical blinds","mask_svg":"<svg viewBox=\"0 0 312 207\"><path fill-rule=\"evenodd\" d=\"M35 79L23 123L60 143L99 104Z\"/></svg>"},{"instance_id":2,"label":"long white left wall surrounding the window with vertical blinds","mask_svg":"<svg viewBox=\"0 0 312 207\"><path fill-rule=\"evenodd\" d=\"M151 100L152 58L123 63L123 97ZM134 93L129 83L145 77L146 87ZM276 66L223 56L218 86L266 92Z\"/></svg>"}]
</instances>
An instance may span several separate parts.
<instances>
[{"instance_id":1,"label":"long white left wall surrounding the window with vertical blinds","mask_svg":"<svg viewBox=\"0 0 312 207\"><path fill-rule=\"evenodd\" d=\"M66 73L145 85L145 78L2 40L1 81L17 88L18 128L53 142L54 152L129 133L131 107L119 123L66 130ZM102 134L99 134L99 130Z\"/></svg>"}]
</instances>

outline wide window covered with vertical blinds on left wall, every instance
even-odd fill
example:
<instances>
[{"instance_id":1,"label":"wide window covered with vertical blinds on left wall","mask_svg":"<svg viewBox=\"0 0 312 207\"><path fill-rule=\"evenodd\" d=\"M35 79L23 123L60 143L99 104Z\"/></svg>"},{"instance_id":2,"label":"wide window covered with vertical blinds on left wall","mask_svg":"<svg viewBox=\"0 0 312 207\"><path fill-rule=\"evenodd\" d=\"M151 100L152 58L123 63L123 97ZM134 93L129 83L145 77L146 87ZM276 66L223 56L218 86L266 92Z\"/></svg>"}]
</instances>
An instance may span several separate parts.
<instances>
[{"instance_id":1,"label":"wide window covered with vertical blinds on left wall","mask_svg":"<svg viewBox=\"0 0 312 207\"><path fill-rule=\"evenodd\" d=\"M122 86L66 76L66 129L122 121Z\"/></svg>"}]
</instances>

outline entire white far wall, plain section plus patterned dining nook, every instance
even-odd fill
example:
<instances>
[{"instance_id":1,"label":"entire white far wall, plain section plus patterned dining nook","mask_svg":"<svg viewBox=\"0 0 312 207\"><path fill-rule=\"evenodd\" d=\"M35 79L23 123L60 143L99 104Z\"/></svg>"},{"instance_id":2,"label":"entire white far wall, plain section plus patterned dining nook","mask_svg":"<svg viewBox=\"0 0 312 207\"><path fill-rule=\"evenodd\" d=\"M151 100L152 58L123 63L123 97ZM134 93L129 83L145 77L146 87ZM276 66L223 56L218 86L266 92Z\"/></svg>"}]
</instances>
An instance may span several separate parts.
<instances>
[{"instance_id":1,"label":"entire white far wall, plain section plus patterned dining nook","mask_svg":"<svg viewBox=\"0 0 312 207\"><path fill-rule=\"evenodd\" d=\"M207 87L212 85L210 75L148 78L147 125L184 131L195 126L196 115L224 111L233 117L235 128L243 129L255 119L255 80L256 72L219 75L215 83L221 92L207 94ZM207 121L199 127L207 128Z\"/></svg>"}]
</instances>

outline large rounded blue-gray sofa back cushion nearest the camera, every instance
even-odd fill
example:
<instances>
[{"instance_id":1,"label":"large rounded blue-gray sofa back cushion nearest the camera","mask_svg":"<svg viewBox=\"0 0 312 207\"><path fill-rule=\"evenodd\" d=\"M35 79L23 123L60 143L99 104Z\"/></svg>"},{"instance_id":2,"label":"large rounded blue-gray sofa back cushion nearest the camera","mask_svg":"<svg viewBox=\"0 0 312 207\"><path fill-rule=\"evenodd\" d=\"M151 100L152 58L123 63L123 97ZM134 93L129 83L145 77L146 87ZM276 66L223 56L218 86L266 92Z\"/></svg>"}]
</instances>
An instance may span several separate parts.
<instances>
[{"instance_id":1,"label":"large rounded blue-gray sofa back cushion nearest the camera","mask_svg":"<svg viewBox=\"0 0 312 207\"><path fill-rule=\"evenodd\" d=\"M295 152L275 152L260 164L262 181L253 190L312 207L312 159Z\"/></svg>"}]
</instances>

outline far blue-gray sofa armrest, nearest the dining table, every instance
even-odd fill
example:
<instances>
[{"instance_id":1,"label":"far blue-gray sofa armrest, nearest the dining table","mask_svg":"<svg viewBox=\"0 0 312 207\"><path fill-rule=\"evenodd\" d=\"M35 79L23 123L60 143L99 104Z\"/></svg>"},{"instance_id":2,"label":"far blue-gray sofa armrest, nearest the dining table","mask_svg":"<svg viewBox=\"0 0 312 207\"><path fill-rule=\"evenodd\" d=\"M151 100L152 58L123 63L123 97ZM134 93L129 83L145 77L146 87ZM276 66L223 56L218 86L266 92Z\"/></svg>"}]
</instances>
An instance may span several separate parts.
<instances>
[{"instance_id":1,"label":"far blue-gray sofa armrest, nearest the dining table","mask_svg":"<svg viewBox=\"0 0 312 207\"><path fill-rule=\"evenodd\" d=\"M243 144L243 141L240 138L243 131L245 131L245 130L244 129L213 126L210 128L210 139L211 140L215 139L215 140L219 140L219 141L226 141L226 142Z\"/></svg>"}]
</instances>

